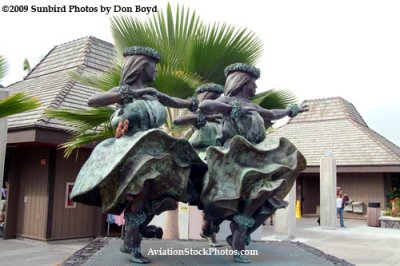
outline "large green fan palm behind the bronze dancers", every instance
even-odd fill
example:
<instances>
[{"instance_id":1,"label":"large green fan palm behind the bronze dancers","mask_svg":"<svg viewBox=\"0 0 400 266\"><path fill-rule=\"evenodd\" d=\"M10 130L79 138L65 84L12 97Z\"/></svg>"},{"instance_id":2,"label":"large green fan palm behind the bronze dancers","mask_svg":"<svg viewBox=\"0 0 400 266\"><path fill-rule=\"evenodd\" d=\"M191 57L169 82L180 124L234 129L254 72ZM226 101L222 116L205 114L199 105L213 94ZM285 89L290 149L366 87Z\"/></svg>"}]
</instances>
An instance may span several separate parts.
<instances>
[{"instance_id":1,"label":"large green fan palm behind the bronze dancers","mask_svg":"<svg viewBox=\"0 0 400 266\"><path fill-rule=\"evenodd\" d=\"M111 31L119 56L115 66L104 74L84 73L72 76L79 82L107 91L119 85L122 52L132 45L148 46L158 50L162 60L158 66L156 80L149 84L171 96L187 98L204 82L223 84L226 66L243 62L255 64L261 56L262 43L254 32L228 24L206 24L196 12L177 6L173 12L170 5L148 20L135 17L113 17ZM270 90L255 97L263 107L283 108L295 100L288 91ZM271 105L271 102L273 104ZM48 115L66 120L74 125L75 135L63 145L65 156L80 146L113 136L108 122L111 108L93 108L87 111L51 110ZM88 124L89 115L93 116ZM180 112L168 109L166 128L171 134L180 134L172 121ZM103 120L101 120L103 118ZM100 128L100 131L88 130Z\"/></svg>"}]
</instances>

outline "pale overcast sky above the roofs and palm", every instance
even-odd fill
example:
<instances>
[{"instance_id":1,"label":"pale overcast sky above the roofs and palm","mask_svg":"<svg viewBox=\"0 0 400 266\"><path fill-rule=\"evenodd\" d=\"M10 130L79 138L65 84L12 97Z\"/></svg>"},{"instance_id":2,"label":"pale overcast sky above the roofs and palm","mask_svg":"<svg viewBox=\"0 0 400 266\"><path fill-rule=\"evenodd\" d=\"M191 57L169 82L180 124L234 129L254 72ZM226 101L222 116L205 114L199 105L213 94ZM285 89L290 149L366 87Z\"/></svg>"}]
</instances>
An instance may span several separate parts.
<instances>
[{"instance_id":1,"label":"pale overcast sky above the roofs and palm","mask_svg":"<svg viewBox=\"0 0 400 266\"><path fill-rule=\"evenodd\" d=\"M28 3L28 4L27 4ZM24 58L34 67L55 45L84 36L113 42L114 15L147 19L153 12L114 6L154 7L165 0L3 0L0 54L9 62L2 81L21 80ZM400 146L400 2L390 0L171 0L195 10L205 22L226 22L254 31L263 41L258 90L288 89L299 102L340 96L370 128ZM27 12L4 12L27 5ZM94 12L33 12L35 7L76 5ZM106 14L103 7L111 7ZM37 10L37 9L36 9ZM76 11L76 8L75 8ZM114 12L115 11L115 12Z\"/></svg>"}]
</instances>

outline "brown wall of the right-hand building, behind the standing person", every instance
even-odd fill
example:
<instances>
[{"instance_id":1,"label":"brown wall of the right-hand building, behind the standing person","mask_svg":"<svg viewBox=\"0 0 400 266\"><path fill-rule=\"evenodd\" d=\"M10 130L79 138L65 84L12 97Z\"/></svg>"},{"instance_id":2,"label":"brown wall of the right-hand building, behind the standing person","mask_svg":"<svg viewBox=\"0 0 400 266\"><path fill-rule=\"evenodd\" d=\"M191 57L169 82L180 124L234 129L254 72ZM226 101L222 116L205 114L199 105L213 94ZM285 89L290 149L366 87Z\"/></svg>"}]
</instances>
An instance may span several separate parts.
<instances>
[{"instance_id":1,"label":"brown wall of the right-hand building, behind the standing person","mask_svg":"<svg viewBox=\"0 0 400 266\"><path fill-rule=\"evenodd\" d=\"M385 209L385 183L383 173L340 173L337 185L350 200L363 202L362 214L345 212L345 218L364 219L368 202L380 202Z\"/></svg>"}]
</instances>

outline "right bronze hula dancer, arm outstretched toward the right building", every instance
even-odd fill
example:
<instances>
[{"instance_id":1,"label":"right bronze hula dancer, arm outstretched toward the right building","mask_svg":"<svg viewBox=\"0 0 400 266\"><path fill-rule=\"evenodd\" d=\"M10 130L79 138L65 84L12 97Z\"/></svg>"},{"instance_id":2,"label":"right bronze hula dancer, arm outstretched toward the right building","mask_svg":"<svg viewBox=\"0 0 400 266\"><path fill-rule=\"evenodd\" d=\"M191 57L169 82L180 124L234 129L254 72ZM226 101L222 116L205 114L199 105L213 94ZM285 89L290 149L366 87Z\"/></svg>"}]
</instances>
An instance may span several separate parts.
<instances>
[{"instance_id":1,"label":"right bronze hula dancer, arm outstretched toward the right building","mask_svg":"<svg viewBox=\"0 0 400 266\"><path fill-rule=\"evenodd\" d=\"M262 212L260 215L260 209L269 200L278 201L275 207L284 207L282 199L306 166L303 155L289 140L266 138L264 125L307 109L291 105L267 110L252 103L250 97L255 95L255 81L260 76L254 66L233 64L225 69L225 75L225 96L199 105L206 114L224 116L217 136L222 146L206 151L208 178L204 180L201 201L206 219L231 220L232 235L227 241L237 251L235 261L247 263L250 261L243 255L245 242L266 217Z\"/></svg>"}]
</instances>

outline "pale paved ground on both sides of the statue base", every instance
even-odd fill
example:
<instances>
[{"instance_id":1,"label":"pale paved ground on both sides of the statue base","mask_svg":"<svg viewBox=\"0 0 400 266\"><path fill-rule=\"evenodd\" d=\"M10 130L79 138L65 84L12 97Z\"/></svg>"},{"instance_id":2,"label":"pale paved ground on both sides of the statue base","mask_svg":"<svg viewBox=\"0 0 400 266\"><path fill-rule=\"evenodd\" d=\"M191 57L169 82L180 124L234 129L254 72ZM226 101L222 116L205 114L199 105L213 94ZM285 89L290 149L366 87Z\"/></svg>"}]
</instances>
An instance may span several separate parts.
<instances>
[{"instance_id":1,"label":"pale paved ground on both sides of the statue base","mask_svg":"<svg viewBox=\"0 0 400 266\"><path fill-rule=\"evenodd\" d=\"M297 222L294 241L300 241L355 265L400 265L399 229L369 227L365 221L345 222L345 228L324 230L318 226L315 218L302 218ZM275 241L272 226L264 227L263 240ZM118 246L118 240L115 241L115 247L111 245L111 249ZM59 265L87 243L88 241L73 241L46 244L29 240L0 239L0 265ZM282 243L281 246L284 245L286 244ZM279 245L276 248L278 247ZM125 258L124 255L120 257ZM129 260L129 257L125 259ZM293 260L293 264L296 262L298 261Z\"/></svg>"}]
</instances>

